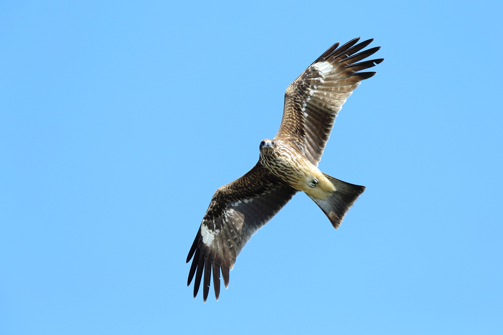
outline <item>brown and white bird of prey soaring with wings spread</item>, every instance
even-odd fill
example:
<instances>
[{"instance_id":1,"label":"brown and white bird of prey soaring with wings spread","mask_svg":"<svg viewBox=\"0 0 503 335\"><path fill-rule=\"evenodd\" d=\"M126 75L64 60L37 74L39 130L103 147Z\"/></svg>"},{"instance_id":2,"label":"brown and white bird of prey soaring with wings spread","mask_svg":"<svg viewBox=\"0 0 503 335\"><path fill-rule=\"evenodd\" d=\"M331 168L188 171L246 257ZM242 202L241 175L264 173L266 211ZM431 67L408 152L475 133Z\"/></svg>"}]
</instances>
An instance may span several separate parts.
<instances>
[{"instance_id":1,"label":"brown and white bird of prey soaring with wings spread","mask_svg":"<svg viewBox=\"0 0 503 335\"><path fill-rule=\"evenodd\" d=\"M229 270L244 244L295 193L306 193L337 229L365 190L364 186L332 178L317 167L342 105L361 80L376 73L358 71L384 60L361 61L380 47L360 52L372 39L359 40L355 38L341 47L339 43L332 45L290 84L280 129L273 139L260 143L257 164L216 190L187 256L187 263L194 257L187 281L189 286L195 275L194 298L203 279L206 301L213 274L218 300L220 271L227 288Z\"/></svg>"}]
</instances>

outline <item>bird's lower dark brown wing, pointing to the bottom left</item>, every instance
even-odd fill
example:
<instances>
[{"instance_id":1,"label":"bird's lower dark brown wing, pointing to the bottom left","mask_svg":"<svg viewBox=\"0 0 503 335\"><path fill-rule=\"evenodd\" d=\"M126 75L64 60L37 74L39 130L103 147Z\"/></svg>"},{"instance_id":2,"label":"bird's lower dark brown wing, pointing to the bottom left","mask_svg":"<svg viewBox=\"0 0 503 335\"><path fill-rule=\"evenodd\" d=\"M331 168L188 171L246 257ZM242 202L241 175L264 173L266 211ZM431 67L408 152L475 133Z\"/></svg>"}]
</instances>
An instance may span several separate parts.
<instances>
[{"instance_id":1,"label":"bird's lower dark brown wing, pointing to the bottom left","mask_svg":"<svg viewBox=\"0 0 503 335\"><path fill-rule=\"evenodd\" d=\"M279 182L257 163L244 176L219 188L204 215L187 263L192 260L187 286L194 275L194 298L203 278L203 300L208 297L211 274L215 298L220 294L220 269L225 287L237 255L257 230L297 193Z\"/></svg>"}]
</instances>

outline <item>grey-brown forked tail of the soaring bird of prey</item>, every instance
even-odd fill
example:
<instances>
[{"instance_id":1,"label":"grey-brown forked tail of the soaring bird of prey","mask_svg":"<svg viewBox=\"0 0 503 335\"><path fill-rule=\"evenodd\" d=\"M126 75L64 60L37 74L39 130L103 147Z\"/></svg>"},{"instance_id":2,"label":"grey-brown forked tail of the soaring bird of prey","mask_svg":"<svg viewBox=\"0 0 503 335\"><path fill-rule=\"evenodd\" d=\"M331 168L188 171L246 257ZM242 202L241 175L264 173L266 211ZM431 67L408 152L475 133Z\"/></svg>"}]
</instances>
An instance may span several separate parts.
<instances>
[{"instance_id":1,"label":"grey-brown forked tail of the soaring bird of prey","mask_svg":"<svg viewBox=\"0 0 503 335\"><path fill-rule=\"evenodd\" d=\"M333 187L336 188L336 192L333 192L332 195L325 200L314 199L309 195L308 197L321 208L323 213L328 217L328 220L330 220L332 226L337 229L341 225L344 215L346 215L350 207L353 206L360 194L365 191L365 186L346 183L342 180L330 177L327 174L323 174L323 176L332 183Z\"/></svg>"}]
</instances>

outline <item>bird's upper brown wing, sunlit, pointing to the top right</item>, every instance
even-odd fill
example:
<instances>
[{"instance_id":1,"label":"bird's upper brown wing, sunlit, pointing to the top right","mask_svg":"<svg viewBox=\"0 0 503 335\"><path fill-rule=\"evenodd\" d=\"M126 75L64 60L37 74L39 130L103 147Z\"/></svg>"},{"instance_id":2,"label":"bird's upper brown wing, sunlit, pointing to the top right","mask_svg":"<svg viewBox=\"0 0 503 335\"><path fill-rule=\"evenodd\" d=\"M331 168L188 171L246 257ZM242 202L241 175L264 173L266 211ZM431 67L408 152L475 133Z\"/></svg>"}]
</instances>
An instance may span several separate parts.
<instances>
[{"instance_id":1,"label":"bird's upper brown wing, sunlit, pointing to the top right","mask_svg":"<svg viewBox=\"0 0 503 335\"><path fill-rule=\"evenodd\" d=\"M285 92L281 126L275 138L294 142L309 161L318 166L337 113L363 79L376 72L357 72L384 59L358 63L380 47L360 53L373 39L356 44L360 38L340 48L332 45L309 66ZM356 45L355 45L356 44Z\"/></svg>"}]
</instances>

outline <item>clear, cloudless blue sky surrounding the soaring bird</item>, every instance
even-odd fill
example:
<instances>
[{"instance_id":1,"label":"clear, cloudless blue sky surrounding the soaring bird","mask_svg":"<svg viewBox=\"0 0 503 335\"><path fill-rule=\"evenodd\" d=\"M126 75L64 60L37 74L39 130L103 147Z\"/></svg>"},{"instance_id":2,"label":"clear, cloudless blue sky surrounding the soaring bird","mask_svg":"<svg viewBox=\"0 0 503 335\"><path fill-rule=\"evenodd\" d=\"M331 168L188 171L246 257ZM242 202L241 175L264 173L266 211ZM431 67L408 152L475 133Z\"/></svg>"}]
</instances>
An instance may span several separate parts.
<instances>
[{"instance_id":1,"label":"clear, cloudless blue sky surrounding the soaring bird","mask_svg":"<svg viewBox=\"0 0 503 335\"><path fill-rule=\"evenodd\" d=\"M0 5L0 333L503 332L501 2ZM304 194L203 304L185 258L213 192L334 42L386 60Z\"/></svg>"}]
</instances>

